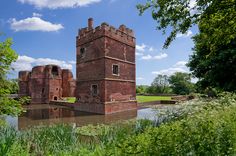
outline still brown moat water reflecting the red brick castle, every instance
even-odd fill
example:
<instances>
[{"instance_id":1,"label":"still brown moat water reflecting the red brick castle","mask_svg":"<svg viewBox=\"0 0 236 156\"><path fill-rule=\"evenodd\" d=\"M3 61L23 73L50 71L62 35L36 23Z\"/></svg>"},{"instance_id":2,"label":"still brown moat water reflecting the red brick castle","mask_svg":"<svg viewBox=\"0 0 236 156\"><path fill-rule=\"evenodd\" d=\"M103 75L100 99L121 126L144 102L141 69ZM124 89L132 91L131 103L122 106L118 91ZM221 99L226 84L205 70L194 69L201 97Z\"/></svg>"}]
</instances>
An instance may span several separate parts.
<instances>
[{"instance_id":1,"label":"still brown moat water reflecting the red brick castle","mask_svg":"<svg viewBox=\"0 0 236 156\"><path fill-rule=\"evenodd\" d=\"M26 112L19 117L5 116L4 118L16 129L27 129L39 125L52 124L73 124L83 126L88 124L109 124L130 119L156 118L157 110L152 108L141 108L138 110L115 113L111 115L99 115L94 113L81 112L64 106L55 105L29 105Z\"/></svg>"}]
</instances>

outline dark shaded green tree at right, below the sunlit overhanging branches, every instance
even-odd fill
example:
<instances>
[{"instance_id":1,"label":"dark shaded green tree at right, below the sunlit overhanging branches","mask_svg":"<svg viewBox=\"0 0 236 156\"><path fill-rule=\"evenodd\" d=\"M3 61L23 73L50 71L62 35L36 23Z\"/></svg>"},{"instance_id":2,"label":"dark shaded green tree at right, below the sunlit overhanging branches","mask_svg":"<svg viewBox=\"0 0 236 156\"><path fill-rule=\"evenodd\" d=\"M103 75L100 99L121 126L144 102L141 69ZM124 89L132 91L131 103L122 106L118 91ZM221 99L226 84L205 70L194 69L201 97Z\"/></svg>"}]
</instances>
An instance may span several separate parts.
<instances>
[{"instance_id":1,"label":"dark shaded green tree at right, below the sunlit overhanging branches","mask_svg":"<svg viewBox=\"0 0 236 156\"><path fill-rule=\"evenodd\" d=\"M195 36L194 42L194 54L190 56L188 66L193 75L199 78L199 90L213 87L236 91L236 42L218 47L217 52L210 56L210 49L201 35Z\"/></svg>"}]
</instances>

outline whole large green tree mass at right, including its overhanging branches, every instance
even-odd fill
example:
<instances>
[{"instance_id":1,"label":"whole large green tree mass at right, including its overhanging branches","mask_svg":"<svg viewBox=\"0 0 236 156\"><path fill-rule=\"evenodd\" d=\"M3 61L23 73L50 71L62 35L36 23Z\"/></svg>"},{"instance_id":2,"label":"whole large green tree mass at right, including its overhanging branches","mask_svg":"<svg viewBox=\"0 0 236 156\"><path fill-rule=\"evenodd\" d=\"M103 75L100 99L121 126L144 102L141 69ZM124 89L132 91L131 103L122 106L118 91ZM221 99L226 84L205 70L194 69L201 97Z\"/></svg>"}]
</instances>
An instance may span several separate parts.
<instances>
[{"instance_id":1,"label":"whole large green tree mass at right, including its overhanging branches","mask_svg":"<svg viewBox=\"0 0 236 156\"><path fill-rule=\"evenodd\" d=\"M194 54L189 67L199 78L202 90L217 88L235 91L236 59L236 0L150 0L138 5L142 14L151 9L157 28L172 28L164 47L167 48L177 33L185 33L197 24L199 34L193 37Z\"/></svg>"}]
</instances>

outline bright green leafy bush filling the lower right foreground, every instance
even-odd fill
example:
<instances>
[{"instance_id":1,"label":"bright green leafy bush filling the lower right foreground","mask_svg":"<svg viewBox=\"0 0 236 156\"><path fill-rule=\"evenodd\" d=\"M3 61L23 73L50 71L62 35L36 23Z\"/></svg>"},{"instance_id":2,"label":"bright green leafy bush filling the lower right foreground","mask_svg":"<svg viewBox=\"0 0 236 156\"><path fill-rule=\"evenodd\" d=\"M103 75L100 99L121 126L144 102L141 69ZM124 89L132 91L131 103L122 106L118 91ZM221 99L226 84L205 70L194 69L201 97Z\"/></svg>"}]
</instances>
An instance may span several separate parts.
<instances>
[{"instance_id":1,"label":"bright green leafy bush filling the lower right foreground","mask_svg":"<svg viewBox=\"0 0 236 156\"><path fill-rule=\"evenodd\" d=\"M236 103L235 95L229 96L203 102L188 116L180 113L175 120L149 127L118 148L136 155L235 155Z\"/></svg>"}]
</instances>

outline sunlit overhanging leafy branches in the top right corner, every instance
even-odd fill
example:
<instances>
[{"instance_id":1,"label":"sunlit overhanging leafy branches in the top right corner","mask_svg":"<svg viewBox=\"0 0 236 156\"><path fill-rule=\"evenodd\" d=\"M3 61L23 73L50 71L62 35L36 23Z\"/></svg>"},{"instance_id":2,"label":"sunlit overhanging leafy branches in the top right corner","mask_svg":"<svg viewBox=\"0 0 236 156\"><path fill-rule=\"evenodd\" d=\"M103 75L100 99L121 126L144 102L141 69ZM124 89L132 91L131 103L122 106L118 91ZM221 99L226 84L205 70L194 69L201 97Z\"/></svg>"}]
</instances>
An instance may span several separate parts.
<instances>
[{"instance_id":1,"label":"sunlit overhanging leafy branches in the top right corner","mask_svg":"<svg viewBox=\"0 0 236 156\"><path fill-rule=\"evenodd\" d=\"M164 34L167 28L172 28L164 48L170 45L177 33L186 33L200 22L210 34L205 36L205 40L212 51L218 45L227 45L236 39L236 0L147 0L137 8L140 14L150 9L157 21L157 29Z\"/></svg>"}]
</instances>

